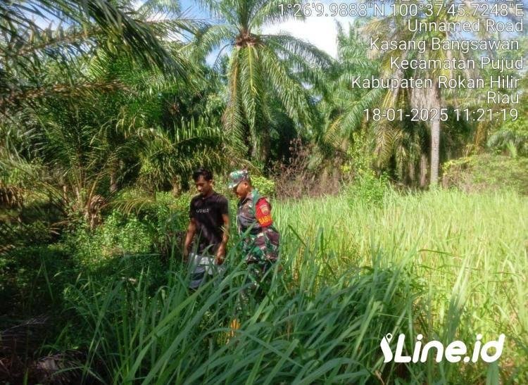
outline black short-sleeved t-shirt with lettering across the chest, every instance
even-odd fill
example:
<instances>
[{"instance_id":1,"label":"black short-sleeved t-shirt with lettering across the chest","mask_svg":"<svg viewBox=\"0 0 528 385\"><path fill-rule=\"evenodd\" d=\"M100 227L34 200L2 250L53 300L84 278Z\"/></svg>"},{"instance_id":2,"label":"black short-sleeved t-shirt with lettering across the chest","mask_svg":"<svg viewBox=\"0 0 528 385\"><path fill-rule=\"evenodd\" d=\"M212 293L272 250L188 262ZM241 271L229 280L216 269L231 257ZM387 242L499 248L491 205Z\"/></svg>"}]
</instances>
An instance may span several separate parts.
<instances>
[{"instance_id":1,"label":"black short-sleeved t-shirt with lettering across the chest","mask_svg":"<svg viewBox=\"0 0 528 385\"><path fill-rule=\"evenodd\" d=\"M215 253L218 245L222 242L222 226L224 220L222 214L228 213L228 204L225 196L217 193L208 198L197 195L191 199L189 217L196 220L195 237L199 239L198 253L208 248L209 253Z\"/></svg>"}]
</instances>

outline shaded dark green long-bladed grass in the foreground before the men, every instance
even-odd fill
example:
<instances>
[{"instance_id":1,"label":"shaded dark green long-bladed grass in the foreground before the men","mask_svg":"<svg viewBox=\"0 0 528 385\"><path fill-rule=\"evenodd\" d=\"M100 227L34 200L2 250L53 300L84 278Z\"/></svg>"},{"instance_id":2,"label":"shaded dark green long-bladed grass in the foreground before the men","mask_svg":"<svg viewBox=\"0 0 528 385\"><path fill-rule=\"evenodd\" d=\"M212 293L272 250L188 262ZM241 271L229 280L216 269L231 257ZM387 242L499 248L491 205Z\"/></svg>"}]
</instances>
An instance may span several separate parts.
<instances>
[{"instance_id":1,"label":"shaded dark green long-bladed grass in the foreground before the men","mask_svg":"<svg viewBox=\"0 0 528 385\"><path fill-rule=\"evenodd\" d=\"M325 258L324 244L320 235L284 260L268 296L242 309L243 264L194 293L177 268L153 292L143 283L149 272L135 282L81 280L69 298L73 322L82 325L77 332L89 336L82 343L84 378L111 384L312 384L394 377L396 367L382 362L378 336L410 327L415 288L403 266L389 268L381 260L333 272L317 263ZM302 268L292 274L297 264ZM241 328L230 336L234 318Z\"/></svg>"}]
</instances>

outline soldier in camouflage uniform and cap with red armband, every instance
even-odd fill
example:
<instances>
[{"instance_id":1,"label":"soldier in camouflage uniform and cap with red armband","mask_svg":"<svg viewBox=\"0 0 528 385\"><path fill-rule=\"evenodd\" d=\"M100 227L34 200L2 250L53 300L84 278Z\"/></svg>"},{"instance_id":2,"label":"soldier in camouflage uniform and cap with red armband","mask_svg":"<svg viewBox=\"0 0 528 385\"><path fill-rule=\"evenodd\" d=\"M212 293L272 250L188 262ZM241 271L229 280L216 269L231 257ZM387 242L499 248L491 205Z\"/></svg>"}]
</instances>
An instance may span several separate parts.
<instances>
[{"instance_id":1,"label":"soldier in camouflage uniform and cap with red armband","mask_svg":"<svg viewBox=\"0 0 528 385\"><path fill-rule=\"evenodd\" d=\"M251 185L247 170L232 172L229 188L239 197L237 230L248 265L246 284L261 299L271 278L267 273L279 257L279 232L273 226L270 203Z\"/></svg>"}]
</instances>

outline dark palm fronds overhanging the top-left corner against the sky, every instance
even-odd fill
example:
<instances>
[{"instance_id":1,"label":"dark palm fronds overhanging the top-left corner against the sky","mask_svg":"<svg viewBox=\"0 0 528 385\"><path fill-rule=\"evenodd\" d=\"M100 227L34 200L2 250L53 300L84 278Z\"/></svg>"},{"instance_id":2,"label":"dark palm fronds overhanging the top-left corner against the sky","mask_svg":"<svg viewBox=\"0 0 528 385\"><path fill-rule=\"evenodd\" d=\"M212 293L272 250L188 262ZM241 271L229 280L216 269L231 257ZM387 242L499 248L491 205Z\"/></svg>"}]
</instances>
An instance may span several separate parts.
<instances>
[{"instance_id":1,"label":"dark palm fronds overhanging the top-left corner against the sky","mask_svg":"<svg viewBox=\"0 0 528 385\"><path fill-rule=\"evenodd\" d=\"M169 28L190 25L177 19L177 7L165 3L146 1L135 9L132 1L1 1L0 117L55 94L115 89L83 76L82 65L98 53L126 53L151 68L187 77L191 65L169 53L159 37Z\"/></svg>"}]
</instances>

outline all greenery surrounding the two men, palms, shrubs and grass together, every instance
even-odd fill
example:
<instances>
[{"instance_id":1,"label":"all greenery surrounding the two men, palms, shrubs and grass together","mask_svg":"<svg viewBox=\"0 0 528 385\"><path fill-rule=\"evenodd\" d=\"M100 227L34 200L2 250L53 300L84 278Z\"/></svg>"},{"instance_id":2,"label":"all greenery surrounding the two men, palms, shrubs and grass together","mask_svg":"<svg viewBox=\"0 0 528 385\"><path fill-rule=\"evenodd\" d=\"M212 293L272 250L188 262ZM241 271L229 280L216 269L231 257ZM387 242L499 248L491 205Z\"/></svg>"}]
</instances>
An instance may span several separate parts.
<instances>
[{"instance_id":1,"label":"all greenery surrounding the two men, palms, shrubs and grass together","mask_svg":"<svg viewBox=\"0 0 528 385\"><path fill-rule=\"evenodd\" d=\"M401 20L337 24L332 58L264 34L293 18L277 3L197 1L209 21L177 1L0 4L0 381L528 381L526 73L515 122L369 122L491 106L353 89L386 75L367 36L405 38ZM224 279L187 291L199 166L227 196L247 167L274 198L282 269L244 315L234 232ZM403 365L389 332L506 343L492 364Z\"/></svg>"}]
</instances>

